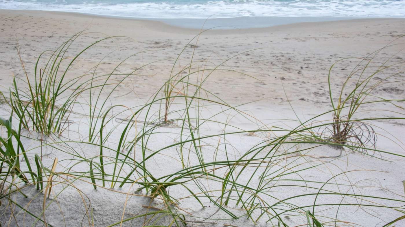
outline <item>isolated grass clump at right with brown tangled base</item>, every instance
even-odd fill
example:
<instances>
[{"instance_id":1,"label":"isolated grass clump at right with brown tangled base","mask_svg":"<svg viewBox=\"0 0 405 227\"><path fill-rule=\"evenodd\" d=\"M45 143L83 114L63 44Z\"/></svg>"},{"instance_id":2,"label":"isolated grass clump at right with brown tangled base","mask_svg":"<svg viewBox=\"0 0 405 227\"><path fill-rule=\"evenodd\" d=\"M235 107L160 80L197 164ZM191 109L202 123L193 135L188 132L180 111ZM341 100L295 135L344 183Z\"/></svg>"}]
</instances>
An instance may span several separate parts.
<instances>
[{"instance_id":1,"label":"isolated grass clump at right with brown tangled base","mask_svg":"<svg viewBox=\"0 0 405 227\"><path fill-rule=\"evenodd\" d=\"M375 63L375 57L385 48L397 46L398 44L388 44L386 47L379 49L365 58L347 58L341 59L333 64L329 69L328 86L330 102L333 107L333 122L326 124L324 127L318 128L317 135L321 141L326 141L341 147L340 145L349 145L353 151L359 153L367 153L369 149L376 148L377 133L373 125L370 124L373 117L369 119L356 118L357 112L364 112L363 106L370 103L386 103L391 106L398 107L404 110L396 103L402 101L401 99L387 100L382 99L373 94L373 91L380 85L388 83L388 79L396 76L401 76L401 63L392 63L391 58L386 59L383 63ZM358 59L359 63L347 75L345 82L342 84L341 90L337 97L335 97L331 89L331 81L333 80L334 67L340 61ZM391 71L391 72L389 72ZM389 76L387 76L389 75ZM379 78L377 76L381 76ZM376 82L373 82L373 79ZM351 86L352 85L352 86ZM372 109L367 111L373 111Z\"/></svg>"}]
</instances>

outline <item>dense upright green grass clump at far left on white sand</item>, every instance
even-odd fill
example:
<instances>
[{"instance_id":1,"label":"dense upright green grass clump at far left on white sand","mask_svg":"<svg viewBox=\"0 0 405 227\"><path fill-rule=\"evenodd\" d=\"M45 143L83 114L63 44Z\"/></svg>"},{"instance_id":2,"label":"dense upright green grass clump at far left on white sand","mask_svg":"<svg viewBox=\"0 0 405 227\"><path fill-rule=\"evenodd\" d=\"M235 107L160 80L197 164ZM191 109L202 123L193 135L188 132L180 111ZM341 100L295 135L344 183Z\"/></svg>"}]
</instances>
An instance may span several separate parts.
<instances>
[{"instance_id":1,"label":"dense upright green grass clump at far left on white sand","mask_svg":"<svg viewBox=\"0 0 405 227\"><path fill-rule=\"evenodd\" d=\"M64 64L66 52L81 33L72 36L54 51L45 51L38 57L34 67L34 78L26 71L23 59L17 48L23 73L26 76L27 90L20 89L15 78L9 90L9 104L25 129L32 129L45 135L61 134L69 123L72 106L82 91L77 81L80 77L65 81L65 76L74 65L75 60L83 53L77 54ZM90 47L90 46L89 46ZM49 55L48 55L49 53ZM45 65L40 65L44 58ZM65 96L65 93L70 95ZM6 98L4 93L2 96ZM63 99L62 99L63 97Z\"/></svg>"}]
</instances>

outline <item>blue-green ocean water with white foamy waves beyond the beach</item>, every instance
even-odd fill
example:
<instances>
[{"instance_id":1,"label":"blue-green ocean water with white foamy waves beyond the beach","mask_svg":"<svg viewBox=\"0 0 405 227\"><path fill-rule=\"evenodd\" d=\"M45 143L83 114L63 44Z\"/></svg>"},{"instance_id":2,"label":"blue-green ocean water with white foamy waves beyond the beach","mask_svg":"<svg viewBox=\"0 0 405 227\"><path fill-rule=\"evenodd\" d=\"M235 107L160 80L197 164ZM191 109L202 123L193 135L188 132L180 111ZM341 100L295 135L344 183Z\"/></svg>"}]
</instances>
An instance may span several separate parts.
<instances>
[{"instance_id":1,"label":"blue-green ocean water with white foamy waves beyond the beach","mask_svg":"<svg viewBox=\"0 0 405 227\"><path fill-rule=\"evenodd\" d=\"M405 0L0 0L0 8L161 19L405 17Z\"/></svg>"}]
</instances>

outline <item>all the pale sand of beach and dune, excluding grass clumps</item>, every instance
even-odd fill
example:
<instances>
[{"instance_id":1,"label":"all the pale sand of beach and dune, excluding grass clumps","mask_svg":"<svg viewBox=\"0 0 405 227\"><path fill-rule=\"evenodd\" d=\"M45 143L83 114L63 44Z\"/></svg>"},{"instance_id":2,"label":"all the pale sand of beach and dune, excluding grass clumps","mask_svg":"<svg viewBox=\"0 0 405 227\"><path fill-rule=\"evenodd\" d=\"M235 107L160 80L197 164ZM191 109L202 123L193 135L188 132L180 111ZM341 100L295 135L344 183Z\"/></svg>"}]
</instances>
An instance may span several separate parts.
<instances>
[{"instance_id":1,"label":"all the pale sand of beach and dune, excluding grass clumps","mask_svg":"<svg viewBox=\"0 0 405 227\"><path fill-rule=\"evenodd\" d=\"M192 126L185 127L181 121L173 121L171 124L156 127L157 135L151 134L150 137L147 137L148 145L144 151L146 156L162 149L158 155L145 161L149 167L148 171L157 179L170 173L183 171L187 166L197 166L201 163L201 159L205 162L237 160L244 157L243 155L253 149L252 147L261 143L271 144L269 141L285 132L279 132L275 130L275 127L292 130L320 113L333 110L328 74L330 74L330 91L333 93L333 101L337 103L337 97L343 84L362 58L371 59L373 57L372 64L364 72L367 75L373 74L384 63L392 64L392 67L373 76L370 80L370 84L379 84L381 81L381 84L373 90L373 95L386 100L403 99L405 95L405 81L401 74L405 59L405 52L401 51L405 47L404 39L401 38L405 34L405 19L357 19L296 23L257 29L208 30L199 36L199 29L173 27L157 21L96 17L73 13L0 10L0 19L2 21L0 22L2 23L0 80L1 91L6 97L8 97L9 87L13 85L13 78L16 79L19 88L23 90L28 88L27 76L21 67L17 48L28 72L28 78L34 81L35 63L43 51L55 50L74 34L83 31L64 56L68 62L74 59L75 53L77 54L93 42L116 36L95 44L80 55L69 67L65 79L75 80L79 75L86 74L87 76L80 80L87 80L86 78L90 78L92 75L108 75L108 72L115 70L113 80L115 82L123 80L111 95L109 90L115 85L108 85L100 92L100 100L107 100L107 104L102 107L103 111L111 105L125 106L117 107L117 110L114 109L108 115L111 121L108 123L108 127L106 125L108 129L105 130L107 132L113 130L111 130L111 134L107 133L108 139L103 142L106 147L114 147L114 149L117 147L126 123L131 122L127 119L128 116L131 116L131 111L134 112L139 105L145 105L151 101L151 97L165 84L170 75L178 74L179 77L187 77L190 71L195 72L192 76L187 77L189 84L198 84L206 79L203 85L206 91L200 91L201 97L204 99L209 97L211 101L215 100L217 103L222 103L221 105L203 99L198 100L198 104L193 104L192 113L190 113L192 117L189 117L189 120L190 118L192 120L187 123ZM195 36L198 37L194 38ZM192 40L193 38L194 40ZM190 42L190 40L192 41ZM383 49L375 53L381 48ZM177 59L179 54L181 55ZM131 55L133 56L130 57ZM126 59L127 57L130 58ZM45 60L40 60L40 65L46 64ZM120 64L122 61L124 63ZM335 65L330 70L333 64ZM361 66L364 66L365 63L361 64L357 69L362 69ZM94 71L97 71L97 74L93 74ZM129 74L130 76L128 76ZM354 73L354 75L357 74L358 71ZM97 83L102 84L101 81L95 82L95 84ZM187 90L185 83L182 81L174 88L173 94L182 96L198 89L190 87L190 90ZM345 90L343 90L342 96L348 95L345 93L346 90L350 95L350 90L354 89L357 84L356 79L349 80L344 85ZM72 108L74 112L68 116L71 124L68 127L66 124L64 125L66 129L61 133L61 137L58 138L54 135L41 141L38 139L43 135L38 132L33 130L23 130L22 132L24 147L26 150L30 150L27 153L31 162L34 163L35 153L41 153L44 166L51 168L55 158L58 158L59 162L55 171L65 174L55 177L55 181L63 183L54 183L51 199L47 200L49 206L47 205L45 215L41 213L44 195L34 187L19 186L24 188L23 191L28 198L24 198L19 193L13 193L12 200L24 204L30 212L34 212L38 216L38 219L45 217L47 223L53 226L87 226L92 225L93 222L95 226L107 226L165 208L159 198L151 200L146 197L148 194L145 190L136 191L140 186L135 183L125 185L123 188L118 188L118 185L110 188L109 183L102 187L101 180L98 179L98 188L95 190L90 179L75 179L75 177L67 175L69 168L72 172L88 172L88 162L90 162L88 160L97 157L94 162L98 161L100 151L96 145L66 142L89 139L88 130L91 123L87 118L88 107L83 103L90 102L89 97L94 95L91 92L83 91L75 100L80 105ZM161 97L162 92L158 94ZM68 95L70 95L69 90L66 97ZM63 96L61 99L67 99L66 97ZM374 100L373 97L370 98ZM184 109L187 105L185 102L183 99L179 101L176 99L173 102L171 105L173 119L184 118ZM197 103L196 100L191 101L191 103L193 102ZM255 172L254 168L248 168L243 172L238 183L256 188L259 187L258 185L263 185L262 181L268 181L264 190L265 195L261 195L263 201L258 199L257 204L254 203L258 207L265 207L266 202L274 204L295 195L317 193L319 187L322 186L319 183L328 182L322 190L339 191L347 195L335 195L335 197L334 195L320 195L317 200L319 204L357 205L342 205L340 208L337 206L314 208L317 211L317 217L325 225L331 221L330 225L338 226L354 225L352 223L356 223L356 226L383 226L403 215L394 209L403 210L401 207L404 205L402 183L405 180L402 157L405 155L404 109L403 103L394 101L394 104L387 102L364 104L354 117L356 119L379 118L369 123L373 126L375 135L378 135L377 141L372 140L372 143L376 142L376 147L373 148L371 145L370 150L364 152L365 154L350 151L347 147L340 150L328 145L314 147L307 143L292 143L296 139L294 137L289 140L291 143L283 144L275 151L274 161L269 161L273 164L271 168L264 172L260 172L261 169L259 172ZM93 103L89 105L93 105ZM96 107L99 105L97 104ZM236 107L237 110L230 106ZM10 107L4 103L2 107L2 117L8 118L11 112ZM128 110L126 107L133 108ZM228 107L230 109L225 110ZM161 120L159 108L159 105L153 105L151 108L153 113L141 112L137 116L139 122L134 123L128 129L128 137L138 135L139 131L159 124ZM193 131L199 124L198 120L202 121L201 119L212 121L198 127L198 137L217 134L220 136L201 140L200 144L195 146L201 152L200 156L198 151L193 150L195 148L193 145L185 145L183 149L187 155L184 155L186 158L183 160L181 158L183 153L179 154L181 146L167 146L190 139L191 135L182 134L184 128L188 131L191 128ZM154 123L147 125L148 120L151 122L154 120ZM332 113L309 120L306 125L316 125L326 120L332 120ZM13 122L15 128L18 127L16 122L17 120ZM225 122L227 124L224 124ZM100 124L101 120L94 127L100 127ZM247 132L258 129L264 129L264 132ZM97 130L99 129L97 128ZM225 138L225 135L221 135L224 131L238 133L226 135ZM97 134L94 139L95 143L100 143L98 136ZM303 138L300 137L299 141L302 140ZM39 149L37 146L41 147L41 143L62 143L62 145L60 147L57 145L44 146L43 149ZM142 141L142 143L144 142ZM142 163L145 157L142 156L141 150L139 147L134 148L133 151L128 151L128 156ZM376 150L395 153L398 156ZM85 157L83 160L86 161L73 165L79 160L78 156L74 155L75 152L79 153L78 156L81 158ZM111 157L115 156L115 152L113 149L106 149L105 152L104 155L109 156L106 160L111 162L109 166L106 166L105 171L112 172L113 161L111 160L113 159ZM124 152L124 149L120 152ZM258 153L257 157L266 160L266 152L269 152L269 148ZM249 157L251 158L251 156ZM122 171L128 173L133 168L131 164L128 164L123 167ZM218 170L213 169L212 172L217 176L225 177L229 171L228 168L230 166L225 166L225 168L222 166ZM239 167L238 171L242 172ZM282 174L290 171L291 174L287 177ZM294 173L295 171L298 172ZM211 170L209 172L211 173ZM134 173L132 180L138 177L142 179L140 174L135 176ZM249 181L250 177L252 179ZM296 181L291 183L278 181L283 181L283 179ZM305 181L304 184L300 182L301 179ZM205 187L204 189L207 191L204 192L212 194L213 198L219 200L217 196L219 196L221 188L226 187L222 183L211 179L207 174L202 174L185 185L188 185L192 191L204 191L201 188ZM279 184L291 185L277 187ZM66 187L66 185L73 186ZM170 188L168 193L173 198L181 198L173 203L180 210L183 209L180 212L187 216L188 224L192 226L204 223L209 226L253 226L252 219L256 220L264 209L252 213L254 216L252 219L247 216L232 219L232 216L219 208L220 206L215 205L218 200L215 202L210 200L208 196L204 196L203 192L200 192L199 195L201 195L200 199L205 208L202 208L185 187L168 188ZM60 194L58 194L59 192ZM249 193L254 194L254 190L250 190ZM356 194L356 196L352 196L352 194ZM373 200L360 195L379 198ZM308 206L311 206L314 203L314 197L315 195L308 195L305 198L298 196L291 198L289 202L292 204L308 203ZM52 198L55 198L55 202L50 203ZM395 201L381 198L391 198ZM31 215L21 211L10 201L6 198L2 200L1 225L17 226L16 223L18 226L30 226L32 223L38 226L43 225L41 221L35 220ZM381 206L390 208L364 207L359 206L358 203L382 204ZM253 205L249 204L249 206ZM287 209L286 207L279 207L279 209ZM233 203L226 208L232 210L237 216L246 215L245 210L252 209ZM312 210L312 207L305 209ZM305 225L307 221L305 209L295 213L292 211L283 213L281 218L291 226ZM15 210L15 214L13 214L15 219L10 210ZM257 225L271 226L270 223L278 225L279 217L277 216L272 216L271 221L266 223L273 215L270 213L263 212L265 217L258 220ZM296 214L300 215L296 216ZM172 216L168 214L162 215L160 219L153 215L151 219L149 217L141 216L138 219L131 219L124 222L124 225L173 224L171 223ZM405 223L397 223L397 226L401 225L405 225Z\"/></svg>"}]
</instances>

